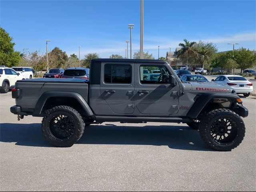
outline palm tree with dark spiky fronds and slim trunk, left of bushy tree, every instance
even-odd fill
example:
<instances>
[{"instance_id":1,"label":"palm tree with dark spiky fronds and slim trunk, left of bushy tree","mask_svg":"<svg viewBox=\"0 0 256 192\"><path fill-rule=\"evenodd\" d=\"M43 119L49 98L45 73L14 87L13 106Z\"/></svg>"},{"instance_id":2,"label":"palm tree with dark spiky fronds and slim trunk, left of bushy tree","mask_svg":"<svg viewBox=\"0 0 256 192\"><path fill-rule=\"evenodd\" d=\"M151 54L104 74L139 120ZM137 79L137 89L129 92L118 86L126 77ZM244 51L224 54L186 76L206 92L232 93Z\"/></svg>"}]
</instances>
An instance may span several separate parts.
<instances>
[{"instance_id":1,"label":"palm tree with dark spiky fronds and slim trunk, left of bushy tree","mask_svg":"<svg viewBox=\"0 0 256 192\"><path fill-rule=\"evenodd\" d=\"M185 43L180 43L179 46L181 47L180 50L178 50L177 54L178 56L184 56L186 58L186 68L188 68L188 57L190 54L197 54L197 52L194 50L193 46L196 44L196 42L189 42L188 40L184 39Z\"/></svg>"}]
</instances>

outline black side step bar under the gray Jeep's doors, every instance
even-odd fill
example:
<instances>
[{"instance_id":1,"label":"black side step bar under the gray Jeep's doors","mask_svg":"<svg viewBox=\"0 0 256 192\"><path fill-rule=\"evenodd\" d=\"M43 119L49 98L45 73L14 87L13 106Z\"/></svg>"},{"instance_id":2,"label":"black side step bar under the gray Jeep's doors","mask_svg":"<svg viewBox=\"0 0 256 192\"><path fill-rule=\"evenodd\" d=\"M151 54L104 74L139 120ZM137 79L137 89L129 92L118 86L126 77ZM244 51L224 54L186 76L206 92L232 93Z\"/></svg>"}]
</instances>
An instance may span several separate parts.
<instances>
[{"instance_id":1,"label":"black side step bar under the gray Jeep's doors","mask_svg":"<svg viewBox=\"0 0 256 192\"><path fill-rule=\"evenodd\" d=\"M184 117L124 117L124 116L95 116L96 122L166 122L186 123L192 122L191 118Z\"/></svg>"}]
</instances>

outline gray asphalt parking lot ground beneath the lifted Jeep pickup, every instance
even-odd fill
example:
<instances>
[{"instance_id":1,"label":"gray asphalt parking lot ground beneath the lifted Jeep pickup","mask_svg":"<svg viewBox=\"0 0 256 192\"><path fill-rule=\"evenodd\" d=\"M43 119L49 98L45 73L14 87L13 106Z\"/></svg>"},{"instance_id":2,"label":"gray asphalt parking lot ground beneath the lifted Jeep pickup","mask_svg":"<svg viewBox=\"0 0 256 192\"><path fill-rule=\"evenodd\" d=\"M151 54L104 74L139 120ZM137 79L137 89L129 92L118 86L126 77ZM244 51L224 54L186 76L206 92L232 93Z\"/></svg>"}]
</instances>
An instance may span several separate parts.
<instances>
[{"instance_id":1,"label":"gray asphalt parking lot ground beneath the lifted Jeep pickup","mask_svg":"<svg viewBox=\"0 0 256 192\"><path fill-rule=\"evenodd\" d=\"M1 191L255 191L256 97L246 136L231 152L207 148L186 124L91 125L71 148L44 139L32 116L17 121L0 94Z\"/></svg>"}]
</instances>

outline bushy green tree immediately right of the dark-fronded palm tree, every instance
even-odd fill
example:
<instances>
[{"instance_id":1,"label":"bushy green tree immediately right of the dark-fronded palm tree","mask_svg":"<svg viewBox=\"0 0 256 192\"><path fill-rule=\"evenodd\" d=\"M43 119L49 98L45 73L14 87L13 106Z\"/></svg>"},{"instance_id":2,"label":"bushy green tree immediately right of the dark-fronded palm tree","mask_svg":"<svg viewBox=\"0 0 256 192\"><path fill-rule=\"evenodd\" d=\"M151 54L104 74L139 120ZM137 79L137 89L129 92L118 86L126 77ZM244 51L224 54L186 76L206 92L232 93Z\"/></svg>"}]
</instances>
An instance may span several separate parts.
<instances>
[{"instance_id":1,"label":"bushy green tree immediately right of the dark-fronded palm tree","mask_svg":"<svg viewBox=\"0 0 256 192\"><path fill-rule=\"evenodd\" d=\"M194 50L196 51L196 56L198 62L201 64L202 68L205 68L205 64L208 64L206 68L210 67L210 57L212 54L217 52L216 45L212 42L199 41L194 45Z\"/></svg>"}]
</instances>

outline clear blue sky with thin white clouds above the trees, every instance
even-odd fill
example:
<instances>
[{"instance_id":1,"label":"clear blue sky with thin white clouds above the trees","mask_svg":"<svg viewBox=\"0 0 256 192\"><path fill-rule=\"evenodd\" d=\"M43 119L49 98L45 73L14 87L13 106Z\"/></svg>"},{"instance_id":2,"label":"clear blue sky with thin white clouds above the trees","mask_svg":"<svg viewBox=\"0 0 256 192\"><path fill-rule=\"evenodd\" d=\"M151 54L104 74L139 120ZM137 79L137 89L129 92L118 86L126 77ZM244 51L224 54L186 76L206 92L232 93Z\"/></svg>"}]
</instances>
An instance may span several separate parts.
<instances>
[{"instance_id":1,"label":"clear blue sky with thin white clouds above the trees","mask_svg":"<svg viewBox=\"0 0 256 192\"><path fill-rule=\"evenodd\" d=\"M140 0L0 0L0 26L13 38L15 50L30 52L59 47L80 58L97 52L125 57L132 30L132 51L140 49ZM144 52L158 58L183 39L209 41L218 51L256 50L256 1L144 0ZM129 45L130 57L130 45Z\"/></svg>"}]
</instances>

